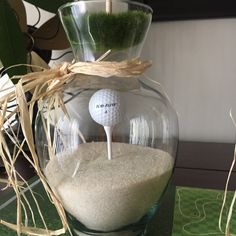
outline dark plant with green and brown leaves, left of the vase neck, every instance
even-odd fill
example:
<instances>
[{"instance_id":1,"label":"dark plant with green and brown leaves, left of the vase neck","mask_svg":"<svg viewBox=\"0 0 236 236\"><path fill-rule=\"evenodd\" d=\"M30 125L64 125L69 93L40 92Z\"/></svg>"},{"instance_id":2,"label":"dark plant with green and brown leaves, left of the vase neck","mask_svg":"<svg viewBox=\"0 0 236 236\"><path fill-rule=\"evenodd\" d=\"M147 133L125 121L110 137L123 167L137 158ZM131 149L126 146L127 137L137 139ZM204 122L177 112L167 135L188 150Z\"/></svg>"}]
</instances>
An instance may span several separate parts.
<instances>
[{"instance_id":1,"label":"dark plant with green and brown leaves, left of the vase neck","mask_svg":"<svg viewBox=\"0 0 236 236\"><path fill-rule=\"evenodd\" d=\"M39 29L27 25L26 10L22 0L0 1L0 61L4 68L27 64L32 51L61 50L69 47L57 15L57 9L72 0L26 0L35 7L44 9L55 16ZM34 53L35 55L35 53ZM26 74L25 66L13 67L7 71L10 76ZM16 82L16 81L15 81Z\"/></svg>"}]
</instances>

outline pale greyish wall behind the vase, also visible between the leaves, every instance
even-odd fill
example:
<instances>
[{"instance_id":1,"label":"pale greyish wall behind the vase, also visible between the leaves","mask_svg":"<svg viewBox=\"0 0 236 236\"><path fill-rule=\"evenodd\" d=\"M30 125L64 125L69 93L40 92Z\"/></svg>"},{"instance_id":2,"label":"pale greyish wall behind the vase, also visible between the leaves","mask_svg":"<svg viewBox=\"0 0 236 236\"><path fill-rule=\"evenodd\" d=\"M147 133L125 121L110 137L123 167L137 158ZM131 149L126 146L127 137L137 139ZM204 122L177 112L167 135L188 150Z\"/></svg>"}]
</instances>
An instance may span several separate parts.
<instances>
[{"instance_id":1,"label":"pale greyish wall behind the vase, also visible between the leaves","mask_svg":"<svg viewBox=\"0 0 236 236\"><path fill-rule=\"evenodd\" d=\"M37 9L25 6L33 25ZM37 27L52 17L40 12ZM71 53L62 56L68 51L53 51L52 58L71 61ZM178 112L180 140L235 141L229 110L236 117L236 18L155 21L142 58L152 60L146 74L162 84Z\"/></svg>"}]
</instances>

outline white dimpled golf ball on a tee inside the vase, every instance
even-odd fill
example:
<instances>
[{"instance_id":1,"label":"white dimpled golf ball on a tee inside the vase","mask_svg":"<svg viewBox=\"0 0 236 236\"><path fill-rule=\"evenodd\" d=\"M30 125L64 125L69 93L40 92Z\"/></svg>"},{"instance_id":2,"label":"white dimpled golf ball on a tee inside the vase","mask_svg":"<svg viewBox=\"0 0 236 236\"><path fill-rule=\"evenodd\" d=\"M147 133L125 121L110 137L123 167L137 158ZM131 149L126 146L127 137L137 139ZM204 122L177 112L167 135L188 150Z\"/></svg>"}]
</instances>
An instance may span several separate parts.
<instances>
[{"instance_id":1,"label":"white dimpled golf ball on a tee inside the vase","mask_svg":"<svg viewBox=\"0 0 236 236\"><path fill-rule=\"evenodd\" d=\"M119 92L112 89L95 92L89 101L89 112L93 120L100 125L116 125L122 116Z\"/></svg>"}]
</instances>

